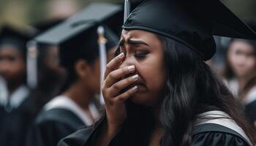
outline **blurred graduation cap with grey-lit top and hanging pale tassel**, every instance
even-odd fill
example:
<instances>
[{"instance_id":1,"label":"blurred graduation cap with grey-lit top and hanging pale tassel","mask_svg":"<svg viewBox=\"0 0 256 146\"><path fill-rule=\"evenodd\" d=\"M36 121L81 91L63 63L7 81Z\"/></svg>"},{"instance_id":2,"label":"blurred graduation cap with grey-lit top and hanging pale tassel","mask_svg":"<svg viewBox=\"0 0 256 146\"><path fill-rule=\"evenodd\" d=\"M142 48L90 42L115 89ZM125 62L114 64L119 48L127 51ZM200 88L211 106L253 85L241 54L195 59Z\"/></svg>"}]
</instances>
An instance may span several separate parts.
<instances>
[{"instance_id":1,"label":"blurred graduation cap with grey-lit top and hanging pale tassel","mask_svg":"<svg viewBox=\"0 0 256 146\"><path fill-rule=\"evenodd\" d=\"M79 58L93 58L99 55L97 27L104 23L112 29L121 28L119 17L122 16L121 6L115 4L94 3L67 20L50 27L31 41L31 61L28 65L30 79L28 84L34 88L37 85L37 57L33 52L38 48L56 46L59 48L59 60L62 66L70 69ZM118 37L105 26L106 48L118 44ZM34 51L36 50L36 51Z\"/></svg>"}]
</instances>

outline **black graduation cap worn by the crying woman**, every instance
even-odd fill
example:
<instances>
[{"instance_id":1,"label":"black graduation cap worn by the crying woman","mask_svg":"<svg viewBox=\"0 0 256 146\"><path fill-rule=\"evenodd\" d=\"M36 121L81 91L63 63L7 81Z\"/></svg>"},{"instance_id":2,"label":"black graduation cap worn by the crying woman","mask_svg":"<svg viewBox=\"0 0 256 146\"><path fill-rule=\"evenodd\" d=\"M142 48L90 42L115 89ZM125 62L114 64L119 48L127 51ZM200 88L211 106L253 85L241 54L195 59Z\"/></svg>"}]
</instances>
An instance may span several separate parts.
<instances>
[{"instance_id":1,"label":"black graduation cap worn by the crying woman","mask_svg":"<svg viewBox=\"0 0 256 146\"><path fill-rule=\"evenodd\" d=\"M132 11L123 28L174 39L205 61L216 52L212 35L256 39L255 32L219 0L146 0Z\"/></svg>"}]
</instances>

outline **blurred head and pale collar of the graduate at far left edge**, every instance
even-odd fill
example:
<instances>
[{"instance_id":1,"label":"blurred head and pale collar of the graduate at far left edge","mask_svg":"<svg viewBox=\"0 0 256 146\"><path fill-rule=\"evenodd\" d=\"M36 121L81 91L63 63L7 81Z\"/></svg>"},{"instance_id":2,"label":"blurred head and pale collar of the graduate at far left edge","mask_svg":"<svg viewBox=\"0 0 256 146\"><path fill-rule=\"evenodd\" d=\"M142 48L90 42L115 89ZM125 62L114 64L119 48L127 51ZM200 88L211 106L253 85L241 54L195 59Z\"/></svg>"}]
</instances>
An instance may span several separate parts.
<instances>
[{"instance_id":1,"label":"blurred head and pale collar of the graduate at far left edge","mask_svg":"<svg viewBox=\"0 0 256 146\"><path fill-rule=\"evenodd\" d=\"M0 40L0 74L6 81L8 91L7 97L1 99L0 103L7 112L11 112L29 95L26 87L26 42L29 37L5 26L1 30Z\"/></svg>"}]
</instances>

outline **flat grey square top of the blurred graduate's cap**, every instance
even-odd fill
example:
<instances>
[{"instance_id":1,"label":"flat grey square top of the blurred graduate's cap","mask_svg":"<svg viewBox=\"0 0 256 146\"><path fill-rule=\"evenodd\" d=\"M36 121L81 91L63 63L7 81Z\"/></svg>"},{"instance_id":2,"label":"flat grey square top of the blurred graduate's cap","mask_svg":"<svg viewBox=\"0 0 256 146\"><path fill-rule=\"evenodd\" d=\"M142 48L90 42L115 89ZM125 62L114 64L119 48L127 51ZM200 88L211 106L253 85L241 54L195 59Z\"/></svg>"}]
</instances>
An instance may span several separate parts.
<instances>
[{"instance_id":1,"label":"flat grey square top of the blurred graduate's cap","mask_svg":"<svg viewBox=\"0 0 256 146\"><path fill-rule=\"evenodd\" d=\"M121 6L115 4L91 4L82 12L73 15L63 23L60 23L49 31L39 35L35 40L38 43L61 45L61 43L64 43L73 37L77 37L86 31L90 31L91 28L93 29L98 24L105 23L105 21L108 23L108 21L114 19L114 15L121 12L121 10ZM97 33L97 31L95 31L95 33Z\"/></svg>"}]
</instances>

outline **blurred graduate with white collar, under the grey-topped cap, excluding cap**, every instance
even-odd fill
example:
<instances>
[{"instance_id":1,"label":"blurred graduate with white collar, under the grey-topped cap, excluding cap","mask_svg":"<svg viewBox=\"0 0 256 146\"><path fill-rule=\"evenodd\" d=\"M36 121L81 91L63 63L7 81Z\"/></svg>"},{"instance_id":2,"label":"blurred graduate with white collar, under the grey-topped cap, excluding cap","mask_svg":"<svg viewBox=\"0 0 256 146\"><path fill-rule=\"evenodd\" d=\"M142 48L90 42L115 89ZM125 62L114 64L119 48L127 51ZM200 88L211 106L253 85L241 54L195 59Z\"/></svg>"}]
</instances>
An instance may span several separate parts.
<instances>
[{"instance_id":1,"label":"blurred graduate with white collar, under the grey-topped cap, excluding cap","mask_svg":"<svg viewBox=\"0 0 256 146\"><path fill-rule=\"evenodd\" d=\"M95 27L93 30L89 32L91 33L89 36L97 34ZM108 35L110 33L112 32L106 32ZM95 39L97 37L91 38L94 39L87 41L84 37L80 44L60 48L62 49L60 61L67 71L67 81L61 94L45 104L42 112L37 116L27 137L27 145L57 145L60 139L82 126L91 126L99 117L99 104L95 102L100 87L99 52ZM116 47L117 39L106 38L108 53L108 50ZM72 54L71 58L70 54Z\"/></svg>"}]
</instances>

